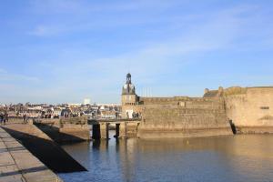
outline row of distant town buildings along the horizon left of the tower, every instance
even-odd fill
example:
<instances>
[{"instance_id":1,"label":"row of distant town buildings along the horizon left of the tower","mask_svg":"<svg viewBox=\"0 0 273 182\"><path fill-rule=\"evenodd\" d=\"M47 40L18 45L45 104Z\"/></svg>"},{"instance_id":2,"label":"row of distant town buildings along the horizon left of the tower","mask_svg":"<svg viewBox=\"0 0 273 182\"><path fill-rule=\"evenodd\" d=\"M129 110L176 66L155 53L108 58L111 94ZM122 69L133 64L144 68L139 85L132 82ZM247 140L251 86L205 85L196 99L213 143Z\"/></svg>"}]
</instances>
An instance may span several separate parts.
<instances>
[{"instance_id":1,"label":"row of distant town buildings along the horizon left of the tower","mask_svg":"<svg viewBox=\"0 0 273 182\"><path fill-rule=\"evenodd\" d=\"M120 116L121 106L116 104L15 104L1 105L0 112L10 117L44 117L57 118L60 116L89 116L93 118L116 118Z\"/></svg>"}]
</instances>

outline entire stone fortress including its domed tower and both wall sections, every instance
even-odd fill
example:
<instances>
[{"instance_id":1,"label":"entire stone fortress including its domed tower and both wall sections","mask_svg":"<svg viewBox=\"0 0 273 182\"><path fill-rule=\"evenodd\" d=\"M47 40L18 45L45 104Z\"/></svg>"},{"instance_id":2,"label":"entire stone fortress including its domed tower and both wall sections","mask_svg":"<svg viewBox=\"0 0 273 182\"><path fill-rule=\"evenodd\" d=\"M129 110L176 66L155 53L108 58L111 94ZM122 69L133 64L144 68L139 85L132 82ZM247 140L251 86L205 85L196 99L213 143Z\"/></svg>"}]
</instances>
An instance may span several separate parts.
<instances>
[{"instance_id":1,"label":"entire stone fortress including its domed tower and both wall sections","mask_svg":"<svg viewBox=\"0 0 273 182\"><path fill-rule=\"evenodd\" d=\"M129 80L129 81L128 81ZM203 97L140 97L127 75L122 116L142 116L137 136L219 136L273 133L273 87L205 89ZM138 115L139 114L139 115Z\"/></svg>"}]
</instances>

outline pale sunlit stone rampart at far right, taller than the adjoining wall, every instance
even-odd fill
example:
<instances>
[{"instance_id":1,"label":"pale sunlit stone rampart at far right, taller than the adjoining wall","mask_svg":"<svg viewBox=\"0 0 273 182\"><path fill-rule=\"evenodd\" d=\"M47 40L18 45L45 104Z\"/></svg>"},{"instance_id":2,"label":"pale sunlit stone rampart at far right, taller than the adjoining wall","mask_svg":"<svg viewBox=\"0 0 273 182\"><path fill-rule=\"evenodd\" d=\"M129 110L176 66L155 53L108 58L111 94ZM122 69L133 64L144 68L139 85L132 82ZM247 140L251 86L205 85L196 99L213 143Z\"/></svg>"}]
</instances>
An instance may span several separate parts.
<instances>
[{"instance_id":1,"label":"pale sunlit stone rampart at far right, taller than the adjoining wall","mask_svg":"<svg viewBox=\"0 0 273 182\"><path fill-rule=\"evenodd\" d=\"M205 97L219 90L207 91ZM226 113L238 133L273 133L273 87L230 87L223 90Z\"/></svg>"}]
</instances>

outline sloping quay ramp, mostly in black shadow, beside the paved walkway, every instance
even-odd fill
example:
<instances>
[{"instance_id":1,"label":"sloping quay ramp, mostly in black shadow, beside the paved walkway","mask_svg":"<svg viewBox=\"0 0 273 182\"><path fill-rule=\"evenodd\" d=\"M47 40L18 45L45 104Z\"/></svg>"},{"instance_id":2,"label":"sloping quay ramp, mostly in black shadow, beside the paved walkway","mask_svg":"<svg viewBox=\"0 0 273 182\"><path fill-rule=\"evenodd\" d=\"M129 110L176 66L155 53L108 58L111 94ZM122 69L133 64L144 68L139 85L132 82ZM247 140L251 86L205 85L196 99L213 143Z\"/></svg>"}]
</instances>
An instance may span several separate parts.
<instances>
[{"instance_id":1,"label":"sloping quay ramp, mostly in black shadow, beside the paved walkway","mask_svg":"<svg viewBox=\"0 0 273 182\"><path fill-rule=\"evenodd\" d=\"M8 124L2 127L51 170L55 172L86 171L85 167L77 163L62 147L56 145L49 136L46 136L36 126Z\"/></svg>"}]
</instances>

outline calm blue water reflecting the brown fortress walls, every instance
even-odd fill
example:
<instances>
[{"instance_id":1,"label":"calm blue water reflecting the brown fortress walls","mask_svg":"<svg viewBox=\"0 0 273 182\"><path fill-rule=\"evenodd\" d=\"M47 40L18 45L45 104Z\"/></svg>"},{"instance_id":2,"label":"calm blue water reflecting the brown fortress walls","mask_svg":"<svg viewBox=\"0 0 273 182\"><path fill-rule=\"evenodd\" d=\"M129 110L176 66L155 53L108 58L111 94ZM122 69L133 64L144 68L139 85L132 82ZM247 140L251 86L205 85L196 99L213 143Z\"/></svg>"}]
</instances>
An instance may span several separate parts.
<instances>
[{"instance_id":1,"label":"calm blue water reflecting the brown fortress walls","mask_svg":"<svg viewBox=\"0 0 273 182\"><path fill-rule=\"evenodd\" d=\"M64 146L88 172L65 182L273 181L273 136L111 139Z\"/></svg>"}]
</instances>

